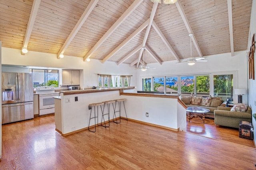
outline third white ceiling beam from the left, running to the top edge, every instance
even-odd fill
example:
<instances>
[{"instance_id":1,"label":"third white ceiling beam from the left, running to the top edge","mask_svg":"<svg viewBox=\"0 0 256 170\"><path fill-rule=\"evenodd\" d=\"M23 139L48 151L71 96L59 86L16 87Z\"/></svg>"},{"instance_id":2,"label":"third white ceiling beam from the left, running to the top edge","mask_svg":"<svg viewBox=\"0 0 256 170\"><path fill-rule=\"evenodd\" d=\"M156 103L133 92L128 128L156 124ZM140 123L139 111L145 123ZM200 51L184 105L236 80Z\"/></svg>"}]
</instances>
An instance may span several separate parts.
<instances>
[{"instance_id":1,"label":"third white ceiling beam from the left, running to the top edge","mask_svg":"<svg viewBox=\"0 0 256 170\"><path fill-rule=\"evenodd\" d=\"M84 61L90 58L91 55L102 45L106 39L122 24L126 18L132 14L132 12L142 3L143 0L135 0L131 6L118 18L118 20L108 29L108 31L100 38L100 40L90 49L90 51L84 56Z\"/></svg>"}]
</instances>

